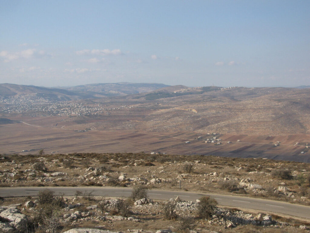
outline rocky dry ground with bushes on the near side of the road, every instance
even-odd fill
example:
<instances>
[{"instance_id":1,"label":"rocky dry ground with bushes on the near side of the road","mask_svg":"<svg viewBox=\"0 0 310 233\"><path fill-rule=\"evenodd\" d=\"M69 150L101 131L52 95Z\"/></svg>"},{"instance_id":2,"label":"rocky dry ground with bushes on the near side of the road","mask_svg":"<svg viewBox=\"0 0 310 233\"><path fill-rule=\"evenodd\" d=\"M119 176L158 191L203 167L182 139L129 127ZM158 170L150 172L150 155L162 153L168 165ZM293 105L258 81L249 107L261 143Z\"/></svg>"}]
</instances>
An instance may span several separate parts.
<instances>
[{"instance_id":1,"label":"rocky dry ground with bushes on the near side of the road","mask_svg":"<svg viewBox=\"0 0 310 233\"><path fill-rule=\"evenodd\" d=\"M89 233L100 233L98 229L124 233L151 233L164 229L166 231L160 232L309 232L310 229L309 223L218 207L208 219L201 219L197 216L200 201L185 202L179 197L169 202L154 202L151 199L132 201L125 213L118 210L120 199L66 197L61 199L59 208L53 207L54 214L49 217L46 215L46 203L42 204L41 199L42 196L3 200L0 206L0 232L67 232L85 227L97 229ZM16 203L19 201L22 203ZM163 206L167 203L175 203L174 212L178 216L175 220L167 220L163 214ZM40 222L40 214L44 222ZM67 233L73 232L78 231Z\"/></svg>"}]
</instances>

